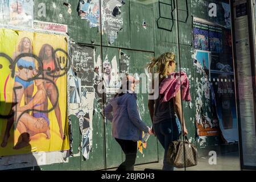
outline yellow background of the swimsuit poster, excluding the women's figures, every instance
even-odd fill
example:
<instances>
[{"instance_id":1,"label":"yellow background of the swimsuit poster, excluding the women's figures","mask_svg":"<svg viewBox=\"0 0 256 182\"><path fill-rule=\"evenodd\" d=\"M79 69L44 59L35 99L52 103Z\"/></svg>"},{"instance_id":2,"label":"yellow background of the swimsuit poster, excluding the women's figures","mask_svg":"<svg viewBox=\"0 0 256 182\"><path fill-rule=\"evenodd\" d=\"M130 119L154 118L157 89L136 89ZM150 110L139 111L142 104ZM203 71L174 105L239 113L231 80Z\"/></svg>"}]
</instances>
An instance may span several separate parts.
<instances>
[{"instance_id":1,"label":"yellow background of the swimsuit poster, excluding the women's figures","mask_svg":"<svg viewBox=\"0 0 256 182\"><path fill-rule=\"evenodd\" d=\"M2 143L7 119L4 118L5 115L8 115L11 110L11 102L13 97L13 86L15 77L11 77L11 69L9 61L1 53L12 57L13 61L15 59L15 52L18 50L18 45L22 38L27 37L32 42L33 54L39 56L40 49L44 44L49 44L53 49L62 49L65 52L57 51L55 53L56 58L61 57L65 58L65 61L61 59L60 65L61 68L67 66L67 38L62 35L50 35L43 34L39 32L28 32L28 31L16 31L6 28L0 28L0 143ZM38 61L34 61L36 69L38 68ZM56 61L57 62L57 61ZM15 65L15 71L18 71L17 65ZM46 134L38 133L30 137L30 146L19 148L14 150L13 147L18 142L20 133L17 129L14 130L12 127L10 130L10 137L8 139L7 146L0 146L0 156L5 155L15 155L15 154L27 154L31 152L49 152L49 151L61 151L69 149L69 139L68 139L68 119L67 119L67 74L65 71L60 71L60 76L57 78L56 86L59 93L59 107L60 115L62 121L63 132L65 134L64 140L60 137L60 129L55 114L55 109L48 113L49 118L49 133L51 137L46 138ZM37 92L37 87L34 82L34 91L33 96ZM52 104L49 98L48 100L48 110L52 109ZM20 106L24 106L24 96L20 102ZM31 114L31 111L29 113ZM28 121L29 122L29 121Z\"/></svg>"}]
</instances>

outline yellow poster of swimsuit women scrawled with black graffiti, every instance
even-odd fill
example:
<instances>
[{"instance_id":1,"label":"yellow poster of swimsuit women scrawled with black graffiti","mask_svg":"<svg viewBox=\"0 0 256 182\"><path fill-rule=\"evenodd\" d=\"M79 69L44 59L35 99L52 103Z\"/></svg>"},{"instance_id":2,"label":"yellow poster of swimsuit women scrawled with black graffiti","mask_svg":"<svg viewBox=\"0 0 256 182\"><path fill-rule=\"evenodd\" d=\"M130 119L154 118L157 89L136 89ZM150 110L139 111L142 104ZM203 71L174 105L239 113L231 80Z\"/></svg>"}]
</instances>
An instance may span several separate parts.
<instances>
[{"instance_id":1,"label":"yellow poster of swimsuit women scrawled with black graffiti","mask_svg":"<svg viewBox=\"0 0 256 182\"><path fill-rule=\"evenodd\" d=\"M68 150L66 37L1 28L0 38L0 155Z\"/></svg>"}]
</instances>

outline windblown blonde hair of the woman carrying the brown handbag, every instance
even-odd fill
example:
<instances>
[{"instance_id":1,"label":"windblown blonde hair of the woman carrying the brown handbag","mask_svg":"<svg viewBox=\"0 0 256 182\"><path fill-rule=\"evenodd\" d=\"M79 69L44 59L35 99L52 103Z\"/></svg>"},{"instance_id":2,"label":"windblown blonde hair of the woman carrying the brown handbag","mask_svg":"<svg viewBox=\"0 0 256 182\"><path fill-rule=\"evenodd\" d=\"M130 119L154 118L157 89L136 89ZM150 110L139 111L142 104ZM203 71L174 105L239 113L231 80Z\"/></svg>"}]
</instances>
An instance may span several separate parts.
<instances>
[{"instance_id":1,"label":"windblown blonde hair of the woman carrying the brown handbag","mask_svg":"<svg viewBox=\"0 0 256 182\"><path fill-rule=\"evenodd\" d=\"M159 73L165 77L168 73L170 63L175 63L175 54L172 52L163 53L157 59L152 58L151 62L146 65L148 73ZM155 68L156 66L156 68Z\"/></svg>"}]
</instances>

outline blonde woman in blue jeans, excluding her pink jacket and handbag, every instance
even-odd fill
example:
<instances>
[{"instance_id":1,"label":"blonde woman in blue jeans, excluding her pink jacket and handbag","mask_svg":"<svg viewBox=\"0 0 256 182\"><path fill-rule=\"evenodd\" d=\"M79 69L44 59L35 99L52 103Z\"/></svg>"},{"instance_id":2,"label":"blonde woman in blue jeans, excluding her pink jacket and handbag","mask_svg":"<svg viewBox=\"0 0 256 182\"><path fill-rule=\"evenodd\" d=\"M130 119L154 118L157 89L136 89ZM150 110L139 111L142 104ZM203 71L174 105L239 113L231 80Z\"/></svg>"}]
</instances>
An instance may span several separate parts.
<instances>
[{"instance_id":1,"label":"blonde woman in blue jeans, excluding her pink jacket and handbag","mask_svg":"<svg viewBox=\"0 0 256 182\"><path fill-rule=\"evenodd\" d=\"M148 73L159 74L159 86L164 81L166 76L175 73L176 62L175 55L171 52L163 53L157 59L152 59L147 65ZM154 81L153 81L154 83ZM173 171L174 167L167 163L167 150L169 144L179 137L179 129L176 123L175 113L180 120L183 129L183 135L187 135L188 131L185 127L185 122L181 111L181 93L180 90L171 98L170 101L162 102L163 94L159 94L156 100L148 100L148 109L152 121L152 133L156 135L159 142L164 148L163 170Z\"/></svg>"}]
</instances>

